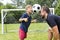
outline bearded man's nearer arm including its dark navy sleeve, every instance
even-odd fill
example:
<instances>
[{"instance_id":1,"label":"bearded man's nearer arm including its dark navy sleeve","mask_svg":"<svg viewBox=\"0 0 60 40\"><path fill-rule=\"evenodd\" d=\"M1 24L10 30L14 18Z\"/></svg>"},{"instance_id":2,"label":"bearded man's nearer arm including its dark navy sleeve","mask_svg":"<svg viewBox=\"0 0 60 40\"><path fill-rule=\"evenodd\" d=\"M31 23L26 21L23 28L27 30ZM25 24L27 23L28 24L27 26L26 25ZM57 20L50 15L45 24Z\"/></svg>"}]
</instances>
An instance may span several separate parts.
<instances>
[{"instance_id":1,"label":"bearded man's nearer arm including its dark navy sleeve","mask_svg":"<svg viewBox=\"0 0 60 40\"><path fill-rule=\"evenodd\" d=\"M52 17L52 16L49 17L48 24L52 28L54 40L59 40L58 26L57 26L57 23L56 23L54 17Z\"/></svg>"}]
</instances>

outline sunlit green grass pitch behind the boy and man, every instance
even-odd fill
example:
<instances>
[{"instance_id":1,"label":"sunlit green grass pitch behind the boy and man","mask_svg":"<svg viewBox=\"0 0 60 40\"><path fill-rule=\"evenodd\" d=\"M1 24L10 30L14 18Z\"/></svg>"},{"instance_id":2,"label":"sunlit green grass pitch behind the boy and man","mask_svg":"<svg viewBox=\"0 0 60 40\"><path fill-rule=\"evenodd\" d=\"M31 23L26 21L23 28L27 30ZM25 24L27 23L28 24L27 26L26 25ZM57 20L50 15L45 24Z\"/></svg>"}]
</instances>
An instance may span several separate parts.
<instances>
[{"instance_id":1,"label":"sunlit green grass pitch behind the boy and man","mask_svg":"<svg viewBox=\"0 0 60 40\"><path fill-rule=\"evenodd\" d=\"M5 34L1 34L0 24L0 40L19 40L17 32L20 26L19 24L5 24L4 26ZM8 31L6 31L6 27ZM25 40L48 40L47 29L48 25L46 23L31 23ZM17 31L10 32L11 30Z\"/></svg>"}]
</instances>

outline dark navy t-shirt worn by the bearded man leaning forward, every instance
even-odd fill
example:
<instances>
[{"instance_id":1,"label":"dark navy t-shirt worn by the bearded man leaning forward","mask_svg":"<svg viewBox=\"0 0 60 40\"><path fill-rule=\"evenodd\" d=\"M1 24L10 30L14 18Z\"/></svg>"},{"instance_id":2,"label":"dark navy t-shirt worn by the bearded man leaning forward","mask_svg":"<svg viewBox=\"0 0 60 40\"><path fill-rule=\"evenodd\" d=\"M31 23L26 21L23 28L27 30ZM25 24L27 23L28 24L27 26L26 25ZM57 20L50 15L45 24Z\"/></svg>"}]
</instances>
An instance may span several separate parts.
<instances>
[{"instance_id":1,"label":"dark navy t-shirt worn by the bearded man leaning forward","mask_svg":"<svg viewBox=\"0 0 60 40\"><path fill-rule=\"evenodd\" d=\"M60 32L60 16L48 14L46 21L51 28L57 25Z\"/></svg>"}]
</instances>

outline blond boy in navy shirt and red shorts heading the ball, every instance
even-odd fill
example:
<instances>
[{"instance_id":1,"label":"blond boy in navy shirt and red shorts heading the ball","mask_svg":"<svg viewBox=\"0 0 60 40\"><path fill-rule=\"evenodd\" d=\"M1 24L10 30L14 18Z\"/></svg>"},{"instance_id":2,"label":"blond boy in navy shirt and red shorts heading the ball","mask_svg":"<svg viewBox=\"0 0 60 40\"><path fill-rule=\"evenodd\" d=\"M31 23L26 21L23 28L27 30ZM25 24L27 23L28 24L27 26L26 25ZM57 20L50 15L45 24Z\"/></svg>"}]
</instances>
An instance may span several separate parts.
<instances>
[{"instance_id":1,"label":"blond boy in navy shirt and red shorts heading the ball","mask_svg":"<svg viewBox=\"0 0 60 40\"><path fill-rule=\"evenodd\" d=\"M20 40L24 40L27 37L28 28L31 23L31 14L32 14L32 6L27 5L26 13L24 13L22 17L19 19L19 21L21 22L19 29Z\"/></svg>"}]
</instances>

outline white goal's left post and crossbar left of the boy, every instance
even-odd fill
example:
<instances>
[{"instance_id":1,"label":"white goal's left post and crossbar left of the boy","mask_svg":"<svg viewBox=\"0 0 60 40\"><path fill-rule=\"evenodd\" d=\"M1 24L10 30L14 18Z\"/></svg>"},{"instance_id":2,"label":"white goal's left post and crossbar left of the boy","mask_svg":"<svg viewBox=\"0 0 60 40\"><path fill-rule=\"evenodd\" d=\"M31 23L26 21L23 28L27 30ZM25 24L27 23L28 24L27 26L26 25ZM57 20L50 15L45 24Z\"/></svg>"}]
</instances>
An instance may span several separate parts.
<instances>
[{"instance_id":1,"label":"white goal's left post and crossbar left of the boy","mask_svg":"<svg viewBox=\"0 0 60 40\"><path fill-rule=\"evenodd\" d=\"M25 9L2 9L1 10L1 24L2 24L2 34L4 34L4 18L8 11L24 11ZM3 13L5 12L5 15Z\"/></svg>"}]
</instances>

